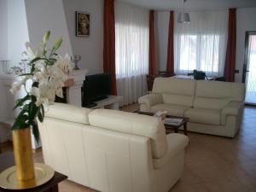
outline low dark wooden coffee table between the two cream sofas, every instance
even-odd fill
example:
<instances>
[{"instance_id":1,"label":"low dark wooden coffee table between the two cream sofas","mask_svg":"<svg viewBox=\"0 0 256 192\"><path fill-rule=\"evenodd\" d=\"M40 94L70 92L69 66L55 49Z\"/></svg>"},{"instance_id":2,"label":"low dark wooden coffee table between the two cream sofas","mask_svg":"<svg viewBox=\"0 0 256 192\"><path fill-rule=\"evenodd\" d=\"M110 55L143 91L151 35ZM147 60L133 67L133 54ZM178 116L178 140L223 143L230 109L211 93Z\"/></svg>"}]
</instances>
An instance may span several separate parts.
<instances>
[{"instance_id":1,"label":"low dark wooden coffee table between the two cream sofas","mask_svg":"<svg viewBox=\"0 0 256 192\"><path fill-rule=\"evenodd\" d=\"M145 115L148 115L148 116L154 116L154 113L151 113L151 112L137 111L136 113L145 114ZM166 118L182 119L182 121L178 125L164 124L165 127L166 127L166 134L171 133L172 130L174 130L177 133L178 129L183 126L184 134L186 136L188 135L187 123L189 122L189 118L177 117L177 116L172 116L172 115L168 115L168 114L166 115Z\"/></svg>"}]
</instances>

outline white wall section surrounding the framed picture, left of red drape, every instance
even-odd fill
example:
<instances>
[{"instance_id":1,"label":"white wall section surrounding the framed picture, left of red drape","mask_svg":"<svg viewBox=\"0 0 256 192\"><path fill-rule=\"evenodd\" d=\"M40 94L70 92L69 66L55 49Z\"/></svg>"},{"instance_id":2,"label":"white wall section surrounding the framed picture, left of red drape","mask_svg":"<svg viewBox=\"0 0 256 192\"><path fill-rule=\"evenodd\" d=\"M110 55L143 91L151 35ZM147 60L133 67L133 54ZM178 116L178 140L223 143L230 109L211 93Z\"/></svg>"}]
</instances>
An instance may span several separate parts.
<instances>
[{"instance_id":1,"label":"white wall section surrounding the framed picture, left of red drape","mask_svg":"<svg viewBox=\"0 0 256 192\"><path fill-rule=\"evenodd\" d=\"M63 0L74 55L82 55L80 68L103 71L103 0ZM90 13L90 36L75 36L75 11Z\"/></svg>"}]
</instances>

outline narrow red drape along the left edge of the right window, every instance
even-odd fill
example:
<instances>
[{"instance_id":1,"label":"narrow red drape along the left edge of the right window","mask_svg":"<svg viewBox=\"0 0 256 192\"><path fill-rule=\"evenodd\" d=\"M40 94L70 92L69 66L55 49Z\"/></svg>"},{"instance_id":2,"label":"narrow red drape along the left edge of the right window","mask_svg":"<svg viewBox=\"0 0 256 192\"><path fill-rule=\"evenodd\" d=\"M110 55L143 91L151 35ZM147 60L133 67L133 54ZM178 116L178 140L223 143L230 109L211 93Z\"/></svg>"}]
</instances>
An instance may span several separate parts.
<instances>
[{"instance_id":1,"label":"narrow red drape along the left edge of the right window","mask_svg":"<svg viewBox=\"0 0 256 192\"><path fill-rule=\"evenodd\" d=\"M174 74L174 13L170 11L166 72Z\"/></svg>"}]
</instances>

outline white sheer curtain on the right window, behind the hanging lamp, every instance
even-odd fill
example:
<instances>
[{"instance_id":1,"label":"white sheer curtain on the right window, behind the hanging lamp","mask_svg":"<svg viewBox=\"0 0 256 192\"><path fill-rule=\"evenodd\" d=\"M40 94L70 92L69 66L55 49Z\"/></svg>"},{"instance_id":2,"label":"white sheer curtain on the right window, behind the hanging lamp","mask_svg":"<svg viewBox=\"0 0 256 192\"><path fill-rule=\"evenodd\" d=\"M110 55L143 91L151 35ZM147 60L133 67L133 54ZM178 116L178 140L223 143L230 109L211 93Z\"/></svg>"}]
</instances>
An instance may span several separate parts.
<instances>
[{"instance_id":1,"label":"white sheer curtain on the right window, behind the hanging lamp","mask_svg":"<svg viewBox=\"0 0 256 192\"><path fill-rule=\"evenodd\" d=\"M194 11L189 15L189 24L177 23L174 29L175 73L186 74L197 69L208 76L223 76L228 10Z\"/></svg>"}]
</instances>

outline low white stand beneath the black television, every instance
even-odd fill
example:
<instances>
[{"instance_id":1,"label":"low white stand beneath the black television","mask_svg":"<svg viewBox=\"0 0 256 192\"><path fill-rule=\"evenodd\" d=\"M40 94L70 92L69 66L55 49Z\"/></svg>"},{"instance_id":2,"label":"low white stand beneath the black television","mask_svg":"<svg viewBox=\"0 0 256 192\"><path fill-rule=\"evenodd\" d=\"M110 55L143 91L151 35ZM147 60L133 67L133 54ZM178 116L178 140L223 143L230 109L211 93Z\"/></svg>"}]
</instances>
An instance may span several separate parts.
<instances>
[{"instance_id":1,"label":"low white stand beneath the black television","mask_svg":"<svg viewBox=\"0 0 256 192\"><path fill-rule=\"evenodd\" d=\"M119 102L123 102L123 96L108 96L107 99L96 102L96 106L92 108L108 108L119 110Z\"/></svg>"}]
</instances>

